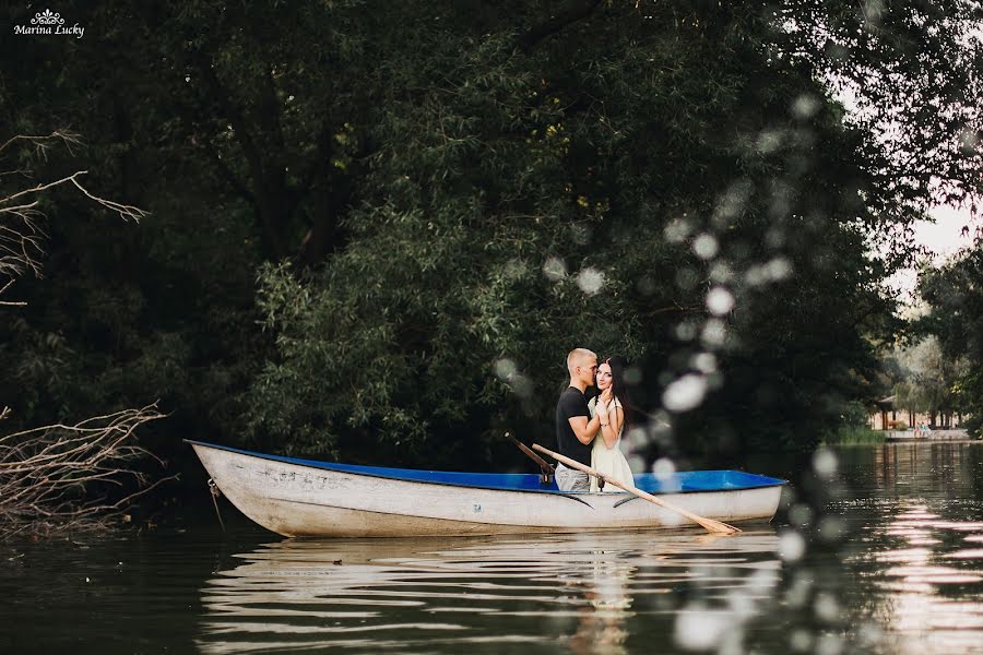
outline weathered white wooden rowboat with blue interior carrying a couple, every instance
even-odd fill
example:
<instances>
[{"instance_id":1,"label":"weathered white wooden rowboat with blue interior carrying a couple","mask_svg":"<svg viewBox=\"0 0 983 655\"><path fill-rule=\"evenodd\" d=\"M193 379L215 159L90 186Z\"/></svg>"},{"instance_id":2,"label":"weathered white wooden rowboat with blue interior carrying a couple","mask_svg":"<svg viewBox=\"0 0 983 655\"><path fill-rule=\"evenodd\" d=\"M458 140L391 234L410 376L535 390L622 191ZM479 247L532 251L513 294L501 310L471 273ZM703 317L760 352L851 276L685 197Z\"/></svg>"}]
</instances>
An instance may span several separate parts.
<instances>
[{"instance_id":1,"label":"weathered white wooden rowboat with blue interior carrying a couple","mask_svg":"<svg viewBox=\"0 0 983 655\"><path fill-rule=\"evenodd\" d=\"M287 537L575 533L695 526L630 493L564 492L522 473L335 464L188 441L246 516ZM785 480L741 471L637 474L656 498L729 523L774 516Z\"/></svg>"}]
</instances>

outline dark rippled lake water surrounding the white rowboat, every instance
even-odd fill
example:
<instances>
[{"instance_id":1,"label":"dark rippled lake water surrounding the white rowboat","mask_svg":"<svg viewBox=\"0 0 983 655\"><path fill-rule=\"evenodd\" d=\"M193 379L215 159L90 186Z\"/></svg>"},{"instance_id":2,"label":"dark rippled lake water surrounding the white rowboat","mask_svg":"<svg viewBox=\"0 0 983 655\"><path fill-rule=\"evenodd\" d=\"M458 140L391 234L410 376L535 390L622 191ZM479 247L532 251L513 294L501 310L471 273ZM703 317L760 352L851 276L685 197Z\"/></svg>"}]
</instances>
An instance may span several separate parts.
<instances>
[{"instance_id":1,"label":"dark rippled lake water surrounding the white rowboat","mask_svg":"<svg viewBox=\"0 0 983 655\"><path fill-rule=\"evenodd\" d=\"M0 652L983 653L983 444L817 453L732 537L0 544ZM211 504L203 492L202 502Z\"/></svg>"}]
</instances>

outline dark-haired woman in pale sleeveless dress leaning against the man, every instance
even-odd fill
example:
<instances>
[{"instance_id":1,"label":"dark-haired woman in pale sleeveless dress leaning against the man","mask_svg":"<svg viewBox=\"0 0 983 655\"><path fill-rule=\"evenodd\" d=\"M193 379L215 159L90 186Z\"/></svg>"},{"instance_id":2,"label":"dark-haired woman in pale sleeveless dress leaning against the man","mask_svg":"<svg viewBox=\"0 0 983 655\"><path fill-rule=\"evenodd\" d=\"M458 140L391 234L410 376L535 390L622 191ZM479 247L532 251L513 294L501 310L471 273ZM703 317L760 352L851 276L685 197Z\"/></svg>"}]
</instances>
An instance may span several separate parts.
<instances>
[{"instance_id":1,"label":"dark-haired woman in pale sleeveless dress leaning against the man","mask_svg":"<svg viewBox=\"0 0 983 655\"><path fill-rule=\"evenodd\" d=\"M594 437L591 449L591 468L603 473L607 478L617 480L626 487L635 487L635 478L628 460L618 444L625 430L625 407L619 398L625 397L625 365L618 357L608 357L597 367L597 389L601 395L591 400L588 409L591 417L601 417L601 431ZM601 490L597 478L591 478L591 492ZM607 485L605 491L620 491L614 485Z\"/></svg>"}]
</instances>

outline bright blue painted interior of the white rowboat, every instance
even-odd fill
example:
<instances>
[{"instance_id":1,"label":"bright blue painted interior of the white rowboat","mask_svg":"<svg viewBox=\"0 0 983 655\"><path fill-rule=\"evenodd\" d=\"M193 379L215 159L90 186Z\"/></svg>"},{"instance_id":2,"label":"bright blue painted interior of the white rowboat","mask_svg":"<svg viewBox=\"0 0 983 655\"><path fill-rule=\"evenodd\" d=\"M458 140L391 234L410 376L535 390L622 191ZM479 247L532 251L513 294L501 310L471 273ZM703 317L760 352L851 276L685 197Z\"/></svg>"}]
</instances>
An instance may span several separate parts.
<instances>
[{"instance_id":1,"label":"bright blue painted interior of the white rowboat","mask_svg":"<svg viewBox=\"0 0 983 655\"><path fill-rule=\"evenodd\" d=\"M256 453L215 443L192 441L188 443L229 451L262 460L296 464L310 468L341 471L375 477L415 480L459 487L481 487L485 489L506 489L516 491L559 492L556 481L544 485L540 474L532 473L460 473L451 471L423 471L417 468L388 468L381 466L362 466L357 464L335 464L316 460L300 460L281 455ZM732 489L755 489L784 485L786 480L765 475L744 473L743 471L679 471L671 474L636 473L635 486L649 493L686 493L696 491L724 491Z\"/></svg>"}]
</instances>

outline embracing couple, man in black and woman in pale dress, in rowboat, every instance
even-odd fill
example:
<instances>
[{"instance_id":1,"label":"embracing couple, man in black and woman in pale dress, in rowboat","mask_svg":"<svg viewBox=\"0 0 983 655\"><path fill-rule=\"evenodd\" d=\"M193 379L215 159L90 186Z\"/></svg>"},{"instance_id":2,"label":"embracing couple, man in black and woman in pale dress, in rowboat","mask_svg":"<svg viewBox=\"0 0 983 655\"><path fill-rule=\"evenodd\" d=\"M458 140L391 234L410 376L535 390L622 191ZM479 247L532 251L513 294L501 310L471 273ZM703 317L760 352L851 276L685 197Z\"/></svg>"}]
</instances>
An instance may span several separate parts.
<instances>
[{"instance_id":1,"label":"embracing couple, man in black and woman in pale dress, in rowboat","mask_svg":"<svg viewBox=\"0 0 983 655\"><path fill-rule=\"evenodd\" d=\"M561 455L577 460L612 479L635 487L631 468L618 448L625 429L624 364L608 357L600 365L597 356L585 348L567 355L570 386L556 404L556 445ZM587 400L585 392L596 386L601 395ZM562 464L556 467L560 491L600 491L597 479ZM618 490L612 486L611 491Z\"/></svg>"}]
</instances>

